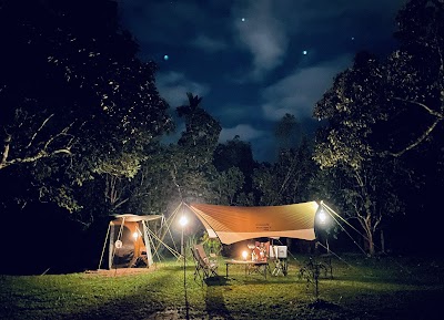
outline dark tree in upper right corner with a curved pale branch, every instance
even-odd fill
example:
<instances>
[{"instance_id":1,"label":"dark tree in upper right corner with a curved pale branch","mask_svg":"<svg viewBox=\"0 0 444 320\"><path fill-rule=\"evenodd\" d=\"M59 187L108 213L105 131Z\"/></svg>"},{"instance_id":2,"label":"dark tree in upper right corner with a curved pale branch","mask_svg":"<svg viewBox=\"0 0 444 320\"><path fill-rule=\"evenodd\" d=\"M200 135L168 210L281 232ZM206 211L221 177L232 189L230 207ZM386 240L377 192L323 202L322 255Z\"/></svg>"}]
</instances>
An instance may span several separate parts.
<instances>
[{"instance_id":1,"label":"dark tree in upper right corner with a curved pale branch","mask_svg":"<svg viewBox=\"0 0 444 320\"><path fill-rule=\"evenodd\" d=\"M444 120L444 3L411 0L396 21L400 49L387 61L389 99L403 120L415 122L413 134L403 132L402 147L390 152L401 156L430 141Z\"/></svg>"}]
</instances>

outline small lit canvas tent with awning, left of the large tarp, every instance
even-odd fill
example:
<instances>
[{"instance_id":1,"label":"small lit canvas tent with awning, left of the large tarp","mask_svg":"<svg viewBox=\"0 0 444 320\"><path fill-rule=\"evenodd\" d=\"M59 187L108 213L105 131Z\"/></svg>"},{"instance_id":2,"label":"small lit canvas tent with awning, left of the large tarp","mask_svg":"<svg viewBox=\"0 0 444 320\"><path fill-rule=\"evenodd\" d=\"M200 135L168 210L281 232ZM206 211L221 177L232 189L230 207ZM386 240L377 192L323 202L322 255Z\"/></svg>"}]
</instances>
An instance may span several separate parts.
<instances>
[{"instance_id":1,"label":"small lit canvas tent with awning, left of the large tarp","mask_svg":"<svg viewBox=\"0 0 444 320\"><path fill-rule=\"evenodd\" d=\"M108 227L99 269L102 266L107 246L109 269L150 267L153 264L153 257L149 221L154 220L163 221L163 216L117 215Z\"/></svg>"}]
</instances>

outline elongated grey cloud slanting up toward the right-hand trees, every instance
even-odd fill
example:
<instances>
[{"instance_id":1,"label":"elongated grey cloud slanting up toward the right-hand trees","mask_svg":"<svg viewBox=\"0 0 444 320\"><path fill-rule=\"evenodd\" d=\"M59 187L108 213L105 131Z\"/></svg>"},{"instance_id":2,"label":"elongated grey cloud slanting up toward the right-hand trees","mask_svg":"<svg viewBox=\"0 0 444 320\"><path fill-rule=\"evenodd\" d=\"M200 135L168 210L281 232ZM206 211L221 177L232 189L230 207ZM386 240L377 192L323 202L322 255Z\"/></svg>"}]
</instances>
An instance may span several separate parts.
<instances>
[{"instance_id":1,"label":"elongated grey cloud slanting up toward the right-hand trees","mask_svg":"<svg viewBox=\"0 0 444 320\"><path fill-rule=\"evenodd\" d=\"M333 84L333 78L351 64L350 55L297 69L265 89L262 111L271 121L279 121L285 113L299 120L312 116L314 104Z\"/></svg>"}]
</instances>

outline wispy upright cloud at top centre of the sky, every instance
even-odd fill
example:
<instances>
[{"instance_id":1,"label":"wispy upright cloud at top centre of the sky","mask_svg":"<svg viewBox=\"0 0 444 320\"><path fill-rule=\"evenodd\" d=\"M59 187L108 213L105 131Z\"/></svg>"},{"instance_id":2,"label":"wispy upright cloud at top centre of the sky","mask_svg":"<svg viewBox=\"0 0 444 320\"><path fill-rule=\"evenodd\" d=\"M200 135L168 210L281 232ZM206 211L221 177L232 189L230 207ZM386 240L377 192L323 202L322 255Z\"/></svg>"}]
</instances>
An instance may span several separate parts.
<instances>
[{"instance_id":1,"label":"wispy upright cloud at top centre of the sky","mask_svg":"<svg viewBox=\"0 0 444 320\"><path fill-rule=\"evenodd\" d=\"M255 80L280 65L287 48L284 25L273 16L273 6L272 0L254 0L233 10L235 37L253 55L251 76Z\"/></svg>"}]
</instances>

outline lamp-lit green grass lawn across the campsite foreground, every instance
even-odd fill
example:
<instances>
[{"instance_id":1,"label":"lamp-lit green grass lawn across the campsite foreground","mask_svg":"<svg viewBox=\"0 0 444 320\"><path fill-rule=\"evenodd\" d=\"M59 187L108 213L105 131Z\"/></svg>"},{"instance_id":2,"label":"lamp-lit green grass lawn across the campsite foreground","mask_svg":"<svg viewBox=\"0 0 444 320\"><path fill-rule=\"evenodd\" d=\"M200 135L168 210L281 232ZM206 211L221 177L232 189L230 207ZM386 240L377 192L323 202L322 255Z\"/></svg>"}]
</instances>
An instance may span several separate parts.
<instances>
[{"instance_id":1,"label":"lamp-lit green grass lawn across the campsite foreground","mask_svg":"<svg viewBox=\"0 0 444 320\"><path fill-rule=\"evenodd\" d=\"M418 258L333 259L333 279L314 286L297 277L193 279L183 266L157 264L145 272L0 276L0 319L442 319L444 261ZM220 261L219 275L225 276Z\"/></svg>"}]
</instances>

